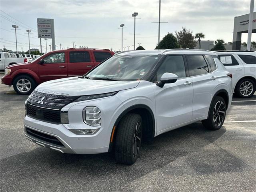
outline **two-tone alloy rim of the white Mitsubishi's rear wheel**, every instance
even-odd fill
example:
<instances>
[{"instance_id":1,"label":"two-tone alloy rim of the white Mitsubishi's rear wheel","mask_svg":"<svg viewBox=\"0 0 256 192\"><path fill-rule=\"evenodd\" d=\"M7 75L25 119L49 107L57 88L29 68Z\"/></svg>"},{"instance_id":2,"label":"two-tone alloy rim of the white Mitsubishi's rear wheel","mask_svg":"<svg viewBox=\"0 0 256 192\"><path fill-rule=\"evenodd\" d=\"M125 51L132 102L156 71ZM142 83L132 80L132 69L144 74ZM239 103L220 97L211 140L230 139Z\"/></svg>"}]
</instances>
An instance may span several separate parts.
<instances>
[{"instance_id":1,"label":"two-tone alloy rim of the white Mitsubishi's rear wheel","mask_svg":"<svg viewBox=\"0 0 256 192\"><path fill-rule=\"evenodd\" d=\"M225 104L222 101L218 101L213 110L213 123L215 126L220 126L225 118Z\"/></svg>"}]
</instances>

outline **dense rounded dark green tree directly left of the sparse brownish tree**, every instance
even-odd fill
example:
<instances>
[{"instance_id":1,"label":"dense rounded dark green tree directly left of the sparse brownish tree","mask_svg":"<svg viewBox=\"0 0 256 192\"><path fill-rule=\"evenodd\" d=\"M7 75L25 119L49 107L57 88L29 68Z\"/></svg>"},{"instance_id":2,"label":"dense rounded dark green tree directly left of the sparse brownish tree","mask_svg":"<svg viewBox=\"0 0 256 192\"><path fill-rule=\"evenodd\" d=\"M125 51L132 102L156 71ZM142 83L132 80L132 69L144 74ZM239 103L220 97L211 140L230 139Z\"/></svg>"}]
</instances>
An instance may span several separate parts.
<instances>
[{"instance_id":1,"label":"dense rounded dark green tree directly left of the sparse brownish tree","mask_svg":"<svg viewBox=\"0 0 256 192\"><path fill-rule=\"evenodd\" d=\"M178 49L180 45L178 40L172 33L168 33L164 38L159 42L155 49Z\"/></svg>"}]
</instances>

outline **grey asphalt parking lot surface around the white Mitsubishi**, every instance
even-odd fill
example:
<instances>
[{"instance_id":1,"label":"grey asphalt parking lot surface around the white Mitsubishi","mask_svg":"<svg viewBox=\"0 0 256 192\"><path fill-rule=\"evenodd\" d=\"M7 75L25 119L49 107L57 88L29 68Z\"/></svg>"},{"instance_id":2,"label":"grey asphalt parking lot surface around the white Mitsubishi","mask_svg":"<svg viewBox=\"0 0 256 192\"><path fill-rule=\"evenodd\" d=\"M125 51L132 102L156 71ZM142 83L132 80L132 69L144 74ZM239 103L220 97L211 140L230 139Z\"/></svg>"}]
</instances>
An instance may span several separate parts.
<instances>
[{"instance_id":1,"label":"grey asphalt parking lot surface around the white Mitsubishi","mask_svg":"<svg viewBox=\"0 0 256 192\"><path fill-rule=\"evenodd\" d=\"M256 191L256 94L233 98L218 131L198 122L144 143L132 166L26 140L25 99L0 84L0 191Z\"/></svg>"}]
</instances>

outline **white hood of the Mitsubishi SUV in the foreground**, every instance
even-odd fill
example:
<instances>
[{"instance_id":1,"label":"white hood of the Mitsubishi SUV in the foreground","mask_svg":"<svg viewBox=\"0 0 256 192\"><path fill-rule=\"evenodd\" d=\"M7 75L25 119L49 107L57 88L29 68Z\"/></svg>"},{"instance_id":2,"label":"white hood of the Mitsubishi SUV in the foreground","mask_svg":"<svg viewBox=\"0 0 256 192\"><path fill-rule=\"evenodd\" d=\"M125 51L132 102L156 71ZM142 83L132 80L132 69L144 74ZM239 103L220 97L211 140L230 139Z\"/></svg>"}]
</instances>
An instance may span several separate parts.
<instances>
[{"instance_id":1,"label":"white hood of the Mitsubishi SUV in the foreground","mask_svg":"<svg viewBox=\"0 0 256 192\"><path fill-rule=\"evenodd\" d=\"M139 82L140 81L91 80L71 77L44 82L35 90L55 95L82 96L131 89L138 86Z\"/></svg>"}]
</instances>

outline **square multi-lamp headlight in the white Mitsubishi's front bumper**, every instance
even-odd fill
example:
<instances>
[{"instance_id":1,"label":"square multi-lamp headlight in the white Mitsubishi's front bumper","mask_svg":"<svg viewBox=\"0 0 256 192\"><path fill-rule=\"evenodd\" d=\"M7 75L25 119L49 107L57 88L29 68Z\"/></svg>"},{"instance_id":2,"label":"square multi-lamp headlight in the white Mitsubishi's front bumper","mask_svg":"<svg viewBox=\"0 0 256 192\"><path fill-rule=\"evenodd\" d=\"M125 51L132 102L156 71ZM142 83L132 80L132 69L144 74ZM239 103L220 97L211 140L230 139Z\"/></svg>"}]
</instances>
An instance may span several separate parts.
<instances>
[{"instance_id":1,"label":"square multi-lamp headlight in the white Mitsubishi's front bumper","mask_svg":"<svg viewBox=\"0 0 256 192\"><path fill-rule=\"evenodd\" d=\"M83 120L90 126L101 125L101 113L98 107L90 106L83 110Z\"/></svg>"}]
</instances>

